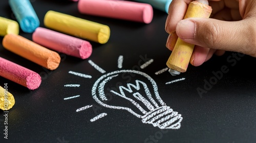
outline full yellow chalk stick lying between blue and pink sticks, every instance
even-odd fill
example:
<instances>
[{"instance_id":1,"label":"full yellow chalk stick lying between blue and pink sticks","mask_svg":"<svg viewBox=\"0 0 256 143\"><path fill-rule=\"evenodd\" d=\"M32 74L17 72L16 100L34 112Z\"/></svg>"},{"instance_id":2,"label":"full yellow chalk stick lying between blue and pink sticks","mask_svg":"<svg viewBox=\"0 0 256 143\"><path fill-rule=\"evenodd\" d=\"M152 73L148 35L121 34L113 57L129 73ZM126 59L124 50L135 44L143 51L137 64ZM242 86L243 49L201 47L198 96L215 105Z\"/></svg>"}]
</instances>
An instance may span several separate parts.
<instances>
[{"instance_id":1,"label":"full yellow chalk stick lying between blue and pink sticks","mask_svg":"<svg viewBox=\"0 0 256 143\"><path fill-rule=\"evenodd\" d=\"M110 28L106 25L51 10L46 13L44 23L46 27L61 33L102 44L110 38Z\"/></svg>"}]
</instances>

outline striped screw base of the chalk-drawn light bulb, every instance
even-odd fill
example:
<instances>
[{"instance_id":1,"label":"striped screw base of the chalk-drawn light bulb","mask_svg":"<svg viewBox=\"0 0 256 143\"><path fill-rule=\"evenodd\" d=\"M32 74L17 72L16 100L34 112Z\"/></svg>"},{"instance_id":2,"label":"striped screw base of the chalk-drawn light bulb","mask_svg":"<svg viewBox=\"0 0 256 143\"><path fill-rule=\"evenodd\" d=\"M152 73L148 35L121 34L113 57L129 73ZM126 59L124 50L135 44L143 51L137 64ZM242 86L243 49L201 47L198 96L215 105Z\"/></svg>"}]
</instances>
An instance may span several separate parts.
<instances>
[{"instance_id":1,"label":"striped screw base of the chalk-drawn light bulb","mask_svg":"<svg viewBox=\"0 0 256 143\"><path fill-rule=\"evenodd\" d=\"M152 124L160 129L179 129L182 121L181 114L169 106L161 106L142 116L142 123Z\"/></svg>"}]
</instances>

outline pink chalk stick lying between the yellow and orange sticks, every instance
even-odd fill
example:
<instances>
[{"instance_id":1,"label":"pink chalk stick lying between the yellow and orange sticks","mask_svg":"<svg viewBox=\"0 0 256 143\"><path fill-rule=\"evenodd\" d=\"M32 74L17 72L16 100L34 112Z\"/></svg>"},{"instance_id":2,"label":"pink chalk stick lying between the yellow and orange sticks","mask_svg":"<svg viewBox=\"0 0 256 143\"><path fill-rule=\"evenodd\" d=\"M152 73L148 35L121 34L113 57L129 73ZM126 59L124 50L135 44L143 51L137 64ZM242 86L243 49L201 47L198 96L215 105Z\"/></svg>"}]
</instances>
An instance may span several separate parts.
<instances>
[{"instance_id":1,"label":"pink chalk stick lying between the yellow and orange sticks","mask_svg":"<svg viewBox=\"0 0 256 143\"><path fill-rule=\"evenodd\" d=\"M32 35L34 42L70 56L87 59L92 54L92 45L86 40L38 27Z\"/></svg>"}]
</instances>

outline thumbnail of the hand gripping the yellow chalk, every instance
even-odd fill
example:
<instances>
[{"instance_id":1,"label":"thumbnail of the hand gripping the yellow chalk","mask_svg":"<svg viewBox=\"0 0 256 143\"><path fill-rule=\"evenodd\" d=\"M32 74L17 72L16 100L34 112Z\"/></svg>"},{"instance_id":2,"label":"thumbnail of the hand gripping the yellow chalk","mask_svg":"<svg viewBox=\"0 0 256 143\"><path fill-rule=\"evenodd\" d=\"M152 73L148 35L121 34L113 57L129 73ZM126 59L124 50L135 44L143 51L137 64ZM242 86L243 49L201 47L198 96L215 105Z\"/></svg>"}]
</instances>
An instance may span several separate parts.
<instances>
[{"instance_id":1,"label":"thumbnail of the hand gripping the yellow chalk","mask_svg":"<svg viewBox=\"0 0 256 143\"><path fill-rule=\"evenodd\" d=\"M190 20L181 20L177 27L176 33L182 39L193 39L195 38L195 23Z\"/></svg>"}]
</instances>

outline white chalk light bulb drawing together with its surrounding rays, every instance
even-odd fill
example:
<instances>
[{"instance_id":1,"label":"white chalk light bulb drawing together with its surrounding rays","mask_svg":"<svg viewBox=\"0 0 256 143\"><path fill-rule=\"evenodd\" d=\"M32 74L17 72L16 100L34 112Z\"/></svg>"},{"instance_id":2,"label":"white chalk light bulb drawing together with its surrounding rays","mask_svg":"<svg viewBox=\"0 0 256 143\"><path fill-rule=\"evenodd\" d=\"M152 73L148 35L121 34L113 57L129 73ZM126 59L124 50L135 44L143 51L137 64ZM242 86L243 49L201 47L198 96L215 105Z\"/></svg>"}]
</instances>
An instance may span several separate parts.
<instances>
[{"instance_id":1,"label":"white chalk light bulb drawing together with its surrounding rays","mask_svg":"<svg viewBox=\"0 0 256 143\"><path fill-rule=\"evenodd\" d=\"M117 61L118 68L122 68L123 59L123 56L119 56ZM140 68L144 69L153 62L153 59L145 61L145 63L142 64ZM88 63L91 64L91 66L98 70L101 74L106 73L104 69L94 63L92 60L89 60ZM168 69L168 67L160 69L155 72L155 75L161 75L167 72ZM92 78L90 75L77 73L76 71L69 71L68 73L80 78ZM176 79L170 82L166 82L165 84L172 84L183 80L185 80L185 78ZM79 88L81 85L66 84L64 87ZM113 90L113 87L115 90ZM114 96L113 99L108 98L109 96L111 97L112 94ZM74 100L76 98L80 98L81 96L75 95L71 97L65 97L63 100ZM179 129L181 127L181 121L183 119L181 114L178 114L178 112L173 111L172 108L166 106L166 104L159 96L156 82L150 76L141 71L120 69L101 76L93 85L92 97L98 104L103 107L122 109L132 113L136 117L141 118L141 121L144 124L152 124L154 127L159 127L160 129ZM96 108L96 106L97 105L94 104L85 105L76 109L76 112L82 112L84 110L89 110L90 108ZM105 117L106 115L108 114L104 112L100 113L92 117L90 121L95 122L100 118Z\"/></svg>"}]
</instances>

